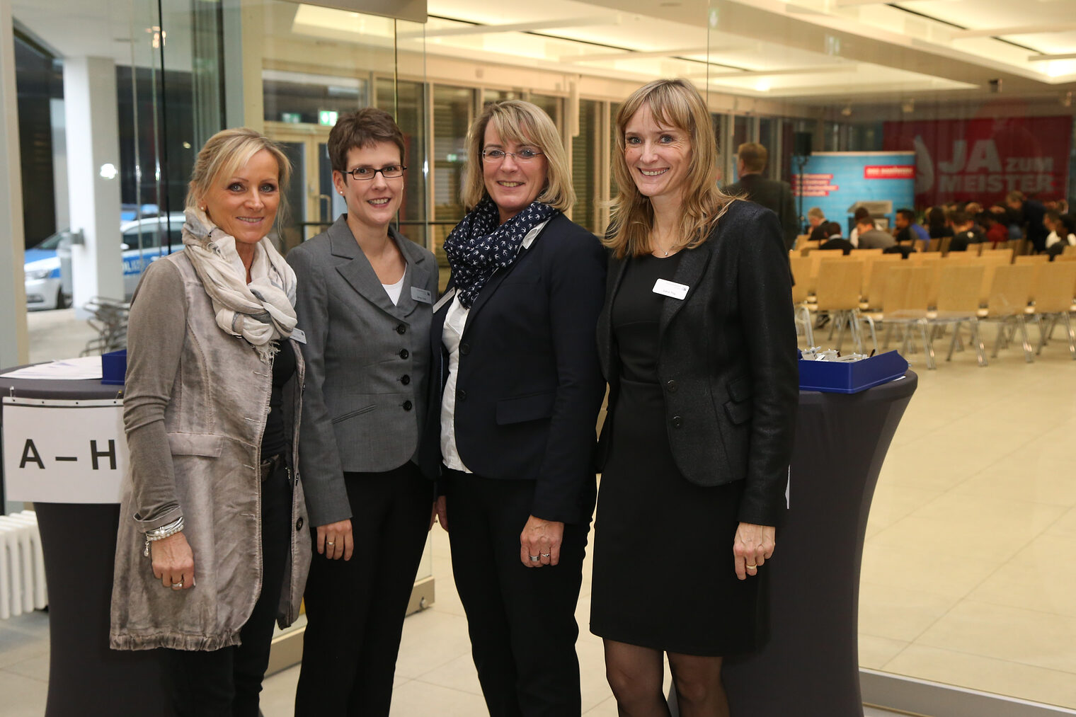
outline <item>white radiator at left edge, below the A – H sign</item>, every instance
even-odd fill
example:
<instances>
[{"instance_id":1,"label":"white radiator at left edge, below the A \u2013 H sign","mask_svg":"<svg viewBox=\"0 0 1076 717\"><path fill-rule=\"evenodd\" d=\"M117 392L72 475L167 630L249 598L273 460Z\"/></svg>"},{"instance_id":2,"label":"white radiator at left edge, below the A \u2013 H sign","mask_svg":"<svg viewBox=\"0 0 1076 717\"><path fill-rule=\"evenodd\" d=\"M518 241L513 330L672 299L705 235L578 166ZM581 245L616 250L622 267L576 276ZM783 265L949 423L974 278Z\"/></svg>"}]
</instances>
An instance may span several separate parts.
<instances>
[{"instance_id":1,"label":"white radiator at left edge, below the A \u2013 H sign","mask_svg":"<svg viewBox=\"0 0 1076 717\"><path fill-rule=\"evenodd\" d=\"M0 516L0 619L47 604L37 514L24 510Z\"/></svg>"}]
</instances>

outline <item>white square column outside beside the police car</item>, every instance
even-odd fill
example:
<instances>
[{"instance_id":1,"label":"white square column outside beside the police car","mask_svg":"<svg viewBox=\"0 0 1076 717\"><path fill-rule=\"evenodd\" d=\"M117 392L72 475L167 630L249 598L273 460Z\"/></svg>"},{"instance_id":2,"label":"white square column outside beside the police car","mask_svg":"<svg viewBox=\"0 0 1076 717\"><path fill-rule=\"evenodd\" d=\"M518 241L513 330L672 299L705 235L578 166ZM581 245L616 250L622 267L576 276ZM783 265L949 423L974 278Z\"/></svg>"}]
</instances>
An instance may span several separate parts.
<instances>
[{"instance_id":1,"label":"white square column outside beside the police car","mask_svg":"<svg viewBox=\"0 0 1076 717\"><path fill-rule=\"evenodd\" d=\"M108 57L63 59L71 228L85 243L71 248L75 315L90 298L123 300L119 243L119 124L116 66Z\"/></svg>"}]
</instances>

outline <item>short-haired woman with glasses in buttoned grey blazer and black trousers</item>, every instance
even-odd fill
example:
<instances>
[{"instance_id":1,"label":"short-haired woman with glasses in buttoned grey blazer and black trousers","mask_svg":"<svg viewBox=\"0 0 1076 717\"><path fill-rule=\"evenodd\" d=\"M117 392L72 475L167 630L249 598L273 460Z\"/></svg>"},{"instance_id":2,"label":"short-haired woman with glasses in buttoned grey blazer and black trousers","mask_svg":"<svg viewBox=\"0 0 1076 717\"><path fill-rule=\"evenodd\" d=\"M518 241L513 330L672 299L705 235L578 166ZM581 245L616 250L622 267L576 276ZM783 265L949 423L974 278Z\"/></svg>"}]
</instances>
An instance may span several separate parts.
<instances>
[{"instance_id":1,"label":"short-haired woman with glasses in buttoned grey blazer and black trousers","mask_svg":"<svg viewBox=\"0 0 1076 717\"><path fill-rule=\"evenodd\" d=\"M433 515L419 465L426 417L434 255L390 222L404 136L372 108L328 142L348 213L287 257L307 361L300 461L314 556L297 715L388 715L407 603Z\"/></svg>"}]
</instances>

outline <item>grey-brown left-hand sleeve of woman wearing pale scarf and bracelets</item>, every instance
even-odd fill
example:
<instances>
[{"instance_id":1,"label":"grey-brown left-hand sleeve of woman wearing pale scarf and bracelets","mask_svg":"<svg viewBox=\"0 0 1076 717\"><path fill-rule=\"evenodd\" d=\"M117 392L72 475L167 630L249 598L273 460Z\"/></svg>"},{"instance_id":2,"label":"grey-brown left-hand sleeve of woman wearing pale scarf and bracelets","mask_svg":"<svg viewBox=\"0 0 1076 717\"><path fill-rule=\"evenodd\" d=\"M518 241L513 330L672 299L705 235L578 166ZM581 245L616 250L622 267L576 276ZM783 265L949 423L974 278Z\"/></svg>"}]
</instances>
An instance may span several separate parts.
<instances>
[{"instance_id":1,"label":"grey-brown left-hand sleeve of woman wearing pale scarf and bracelets","mask_svg":"<svg viewBox=\"0 0 1076 717\"><path fill-rule=\"evenodd\" d=\"M142 531L183 515L175 494L165 409L179 376L186 340L183 279L171 262L146 267L131 301L127 327L124 428L130 451L133 519Z\"/></svg>"}]
</instances>

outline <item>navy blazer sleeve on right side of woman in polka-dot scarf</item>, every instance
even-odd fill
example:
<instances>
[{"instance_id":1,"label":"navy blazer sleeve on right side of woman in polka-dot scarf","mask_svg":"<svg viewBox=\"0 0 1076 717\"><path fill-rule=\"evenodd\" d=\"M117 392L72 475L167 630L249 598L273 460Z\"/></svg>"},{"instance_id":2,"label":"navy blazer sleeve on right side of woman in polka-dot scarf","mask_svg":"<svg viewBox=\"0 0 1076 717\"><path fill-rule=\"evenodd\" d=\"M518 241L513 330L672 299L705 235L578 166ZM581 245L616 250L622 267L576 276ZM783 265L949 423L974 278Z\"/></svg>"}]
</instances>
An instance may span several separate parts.
<instances>
[{"instance_id":1,"label":"navy blazer sleeve on right side of woman in polka-dot scarf","mask_svg":"<svg viewBox=\"0 0 1076 717\"><path fill-rule=\"evenodd\" d=\"M581 233L583 234L583 233ZM581 495L594 480L595 425L605 381L594 340L605 300L606 254L590 233L571 237L570 252L554 257L549 277L550 340L557 388L532 515L580 522Z\"/></svg>"}]
</instances>

